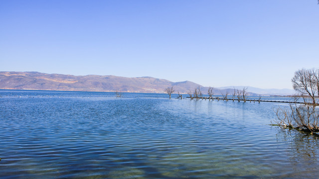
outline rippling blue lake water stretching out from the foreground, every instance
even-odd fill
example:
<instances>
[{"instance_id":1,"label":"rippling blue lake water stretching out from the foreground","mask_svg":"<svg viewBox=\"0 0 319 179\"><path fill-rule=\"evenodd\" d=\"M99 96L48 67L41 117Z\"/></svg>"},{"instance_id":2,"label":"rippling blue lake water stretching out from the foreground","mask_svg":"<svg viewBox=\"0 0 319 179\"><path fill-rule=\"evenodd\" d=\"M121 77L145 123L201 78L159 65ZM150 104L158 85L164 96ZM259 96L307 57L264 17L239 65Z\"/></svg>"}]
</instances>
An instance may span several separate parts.
<instances>
[{"instance_id":1,"label":"rippling blue lake water stretching out from the foreground","mask_svg":"<svg viewBox=\"0 0 319 179\"><path fill-rule=\"evenodd\" d=\"M319 139L285 103L0 90L1 179L318 179Z\"/></svg>"}]
</instances>

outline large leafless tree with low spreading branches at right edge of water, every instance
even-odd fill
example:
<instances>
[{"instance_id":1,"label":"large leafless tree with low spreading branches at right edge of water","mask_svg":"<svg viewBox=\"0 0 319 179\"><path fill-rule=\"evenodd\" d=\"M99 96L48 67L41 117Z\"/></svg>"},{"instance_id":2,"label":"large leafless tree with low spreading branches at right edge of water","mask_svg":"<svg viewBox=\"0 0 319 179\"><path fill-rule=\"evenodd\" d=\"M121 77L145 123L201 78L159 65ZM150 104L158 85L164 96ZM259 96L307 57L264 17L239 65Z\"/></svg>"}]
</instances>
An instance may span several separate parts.
<instances>
[{"instance_id":1,"label":"large leafless tree with low spreading branches at right edge of water","mask_svg":"<svg viewBox=\"0 0 319 179\"><path fill-rule=\"evenodd\" d=\"M282 127L289 127L301 131L319 132L319 69L302 69L295 73L292 79L297 95L289 108L279 107L275 121ZM317 95L318 94L318 95ZM302 104L300 102L302 100Z\"/></svg>"}]
</instances>

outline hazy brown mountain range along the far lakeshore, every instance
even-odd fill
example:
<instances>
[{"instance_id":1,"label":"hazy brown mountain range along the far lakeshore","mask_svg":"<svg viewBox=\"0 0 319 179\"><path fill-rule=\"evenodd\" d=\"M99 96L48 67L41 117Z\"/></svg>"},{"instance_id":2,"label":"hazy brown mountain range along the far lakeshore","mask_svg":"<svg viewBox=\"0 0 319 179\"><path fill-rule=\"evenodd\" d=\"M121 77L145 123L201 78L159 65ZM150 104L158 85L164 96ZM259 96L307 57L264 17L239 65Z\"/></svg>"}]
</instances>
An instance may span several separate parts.
<instances>
[{"instance_id":1,"label":"hazy brown mountain range along the far lakeshore","mask_svg":"<svg viewBox=\"0 0 319 179\"><path fill-rule=\"evenodd\" d=\"M121 91L121 92L148 92L164 93L167 87L174 87L175 92L187 93L200 88L203 94L207 94L208 87L184 81L170 82L164 79L153 77L117 77L112 75L62 75L45 74L39 72L0 72L0 89L32 89L32 90L67 90L67 91ZM215 94L225 94L226 91L233 93L234 88L243 87L222 87L214 88ZM252 89L252 90L251 90ZM288 95L289 90L280 89L257 89L248 88L249 95Z\"/></svg>"}]
</instances>

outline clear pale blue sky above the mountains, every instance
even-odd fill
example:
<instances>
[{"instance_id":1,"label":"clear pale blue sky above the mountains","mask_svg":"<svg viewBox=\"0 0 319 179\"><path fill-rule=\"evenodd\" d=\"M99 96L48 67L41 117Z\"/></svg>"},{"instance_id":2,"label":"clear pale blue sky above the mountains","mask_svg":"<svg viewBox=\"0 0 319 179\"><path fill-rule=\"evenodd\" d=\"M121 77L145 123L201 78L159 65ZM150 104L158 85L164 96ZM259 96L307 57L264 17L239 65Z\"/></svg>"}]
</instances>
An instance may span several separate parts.
<instances>
[{"instance_id":1,"label":"clear pale blue sky above the mountains","mask_svg":"<svg viewBox=\"0 0 319 179\"><path fill-rule=\"evenodd\" d=\"M289 88L319 68L317 0L0 0L0 71Z\"/></svg>"}]
</instances>

